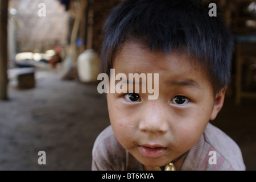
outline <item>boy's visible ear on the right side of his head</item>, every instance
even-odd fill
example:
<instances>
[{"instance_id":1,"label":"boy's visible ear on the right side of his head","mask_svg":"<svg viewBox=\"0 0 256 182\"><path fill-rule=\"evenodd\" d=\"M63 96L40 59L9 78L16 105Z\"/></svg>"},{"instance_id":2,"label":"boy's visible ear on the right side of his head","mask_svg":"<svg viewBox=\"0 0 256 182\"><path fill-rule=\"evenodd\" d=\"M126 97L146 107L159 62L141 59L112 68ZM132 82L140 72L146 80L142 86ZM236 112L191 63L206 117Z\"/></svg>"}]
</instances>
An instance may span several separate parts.
<instances>
[{"instance_id":1,"label":"boy's visible ear on the right side of his head","mask_svg":"<svg viewBox=\"0 0 256 182\"><path fill-rule=\"evenodd\" d=\"M224 104L225 92L226 92L226 88L222 89L221 92L219 92L216 95L212 114L210 115L210 121L214 120L217 117L218 112L221 110Z\"/></svg>"}]
</instances>

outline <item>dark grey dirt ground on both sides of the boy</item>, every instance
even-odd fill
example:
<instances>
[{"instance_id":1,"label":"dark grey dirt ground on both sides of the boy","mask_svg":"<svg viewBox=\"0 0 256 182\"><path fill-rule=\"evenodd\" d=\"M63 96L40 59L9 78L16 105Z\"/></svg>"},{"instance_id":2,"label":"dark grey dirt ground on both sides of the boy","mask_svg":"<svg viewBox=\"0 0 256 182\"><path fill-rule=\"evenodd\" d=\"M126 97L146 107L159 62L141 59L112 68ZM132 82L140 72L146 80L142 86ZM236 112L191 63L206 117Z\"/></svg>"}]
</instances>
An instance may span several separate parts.
<instances>
[{"instance_id":1,"label":"dark grey dirt ground on both sides of the boy","mask_svg":"<svg viewBox=\"0 0 256 182\"><path fill-rule=\"evenodd\" d=\"M9 100L0 101L0 170L90 170L97 135L109 125L97 84L61 80L61 67L36 69L36 87L19 90L10 80ZM256 170L256 100L225 105L213 125L241 147L247 170ZM46 165L38 152L46 152Z\"/></svg>"}]
</instances>

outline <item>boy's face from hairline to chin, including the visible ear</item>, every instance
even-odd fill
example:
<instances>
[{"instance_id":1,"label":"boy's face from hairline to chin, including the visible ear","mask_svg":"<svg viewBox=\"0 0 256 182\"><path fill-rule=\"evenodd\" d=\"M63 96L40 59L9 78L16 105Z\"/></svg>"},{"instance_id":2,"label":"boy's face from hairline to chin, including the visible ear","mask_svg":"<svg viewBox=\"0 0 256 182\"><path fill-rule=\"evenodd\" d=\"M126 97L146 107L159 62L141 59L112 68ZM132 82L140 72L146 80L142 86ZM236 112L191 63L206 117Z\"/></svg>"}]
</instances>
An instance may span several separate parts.
<instances>
[{"instance_id":1,"label":"boy's face from hairline to chin, including the visible ear","mask_svg":"<svg viewBox=\"0 0 256 182\"><path fill-rule=\"evenodd\" d=\"M222 107L225 92L214 100L210 82L189 59L129 42L114 60L115 75L159 74L156 100L148 93L107 94L115 137L144 167L164 166L188 151Z\"/></svg>"}]
</instances>

